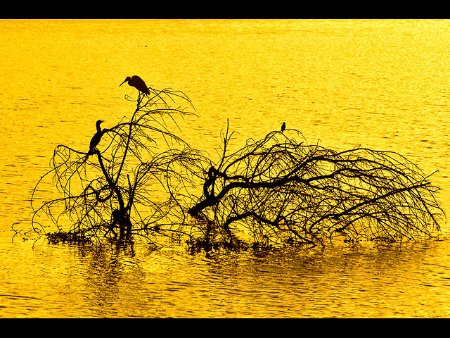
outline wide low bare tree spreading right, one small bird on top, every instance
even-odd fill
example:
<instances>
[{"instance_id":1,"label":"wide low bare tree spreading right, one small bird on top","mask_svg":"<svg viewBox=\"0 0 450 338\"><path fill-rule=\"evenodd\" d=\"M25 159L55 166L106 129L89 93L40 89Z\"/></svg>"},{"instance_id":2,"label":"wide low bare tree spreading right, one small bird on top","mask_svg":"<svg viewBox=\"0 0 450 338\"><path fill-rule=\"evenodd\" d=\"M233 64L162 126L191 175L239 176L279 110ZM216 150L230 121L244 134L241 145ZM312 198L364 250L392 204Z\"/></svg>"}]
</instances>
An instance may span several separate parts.
<instances>
[{"instance_id":1,"label":"wide low bare tree spreading right, one small bird on top","mask_svg":"<svg viewBox=\"0 0 450 338\"><path fill-rule=\"evenodd\" d=\"M336 234L392 242L439 230L438 188L403 156L361 147L333 151L288 134L302 137L274 131L228 154L227 128L222 156L189 210L205 229L205 245L233 242L240 228L262 246L323 244Z\"/></svg>"}]
</instances>

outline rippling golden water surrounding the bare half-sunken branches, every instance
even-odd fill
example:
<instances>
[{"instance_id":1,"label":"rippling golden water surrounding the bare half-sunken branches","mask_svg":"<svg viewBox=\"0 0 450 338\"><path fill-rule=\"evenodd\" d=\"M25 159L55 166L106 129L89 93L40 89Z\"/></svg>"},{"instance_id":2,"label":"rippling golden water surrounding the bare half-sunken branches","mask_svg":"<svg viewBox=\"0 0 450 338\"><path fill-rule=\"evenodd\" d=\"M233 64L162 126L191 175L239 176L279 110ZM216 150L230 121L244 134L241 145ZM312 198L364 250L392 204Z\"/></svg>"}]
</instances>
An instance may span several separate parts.
<instances>
[{"instance_id":1,"label":"rippling golden water surrounding the bare half-sunken branches","mask_svg":"<svg viewBox=\"0 0 450 338\"><path fill-rule=\"evenodd\" d=\"M450 211L450 20L0 20L0 317L447 317L450 242L189 256L13 238L57 144L133 111L140 75L182 90L182 136L210 151L229 118L259 139L397 151Z\"/></svg>"}]
</instances>

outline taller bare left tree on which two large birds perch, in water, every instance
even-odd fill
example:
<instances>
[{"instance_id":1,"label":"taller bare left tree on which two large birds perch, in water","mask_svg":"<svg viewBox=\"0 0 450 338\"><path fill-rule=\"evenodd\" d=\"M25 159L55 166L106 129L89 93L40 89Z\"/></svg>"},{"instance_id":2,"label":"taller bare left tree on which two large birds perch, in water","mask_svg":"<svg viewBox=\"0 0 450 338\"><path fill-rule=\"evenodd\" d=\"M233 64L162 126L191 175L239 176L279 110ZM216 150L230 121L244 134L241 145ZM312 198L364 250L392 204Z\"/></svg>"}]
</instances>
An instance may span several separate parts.
<instances>
[{"instance_id":1,"label":"taller bare left tree on which two large birds perch, in water","mask_svg":"<svg viewBox=\"0 0 450 338\"><path fill-rule=\"evenodd\" d=\"M153 234L181 231L174 221L183 215L179 199L193 184L188 167L201 164L202 155L171 132L166 120L176 125L174 115L191 114L187 109L193 106L182 92L149 90L148 96L139 94L131 118L103 130L97 121L89 150L56 146L51 170L32 196L35 231L56 241L129 239L131 234L151 241ZM185 108L172 108L180 100ZM34 208L34 194L47 177L62 196ZM161 194L164 190L167 194ZM57 231L38 222L41 213Z\"/></svg>"}]
</instances>

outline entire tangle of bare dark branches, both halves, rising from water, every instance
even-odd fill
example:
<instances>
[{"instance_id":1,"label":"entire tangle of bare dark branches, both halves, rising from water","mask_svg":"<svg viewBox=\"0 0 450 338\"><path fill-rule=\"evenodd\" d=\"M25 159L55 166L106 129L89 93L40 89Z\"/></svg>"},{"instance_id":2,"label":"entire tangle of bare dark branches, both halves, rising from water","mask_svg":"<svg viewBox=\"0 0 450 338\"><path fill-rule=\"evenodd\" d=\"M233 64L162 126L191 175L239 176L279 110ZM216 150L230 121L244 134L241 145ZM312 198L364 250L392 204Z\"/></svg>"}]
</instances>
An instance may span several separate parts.
<instances>
[{"instance_id":1,"label":"entire tangle of bare dark branches, both halves, rising from water","mask_svg":"<svg viewBox=\"0 0 450 338\"><path fill-rule=\"evenodd\" d=\"M193 115L188 97L149 89L130 118L101 130L96 148L56 147L32 196L35 232L53 243L183 240L192 251L316 246L336 236L398 242L439 232L439 189L399 154L334 151L307 144L298 130L269 132L230 153L227 126L212 161L166 127L167 119L176 125L176 115ZM48 178L60 197L34 208ZM38 222L42 213L51 225Z\"/></svg>"}]
</instances>

